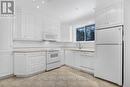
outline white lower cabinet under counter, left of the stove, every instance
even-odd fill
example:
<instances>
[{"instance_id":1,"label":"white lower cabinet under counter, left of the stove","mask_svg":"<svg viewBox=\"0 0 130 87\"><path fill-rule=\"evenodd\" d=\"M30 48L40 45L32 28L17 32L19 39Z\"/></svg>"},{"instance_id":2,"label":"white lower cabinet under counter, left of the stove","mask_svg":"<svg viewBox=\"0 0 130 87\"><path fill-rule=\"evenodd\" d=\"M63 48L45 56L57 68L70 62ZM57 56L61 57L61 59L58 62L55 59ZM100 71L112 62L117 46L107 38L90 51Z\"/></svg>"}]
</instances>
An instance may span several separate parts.
<instances>
[{"instance_id":1,"label":"white lower cabinet under counter, left of the stove","mask_svg":"<svg viewBox=\"0 0 130 87\"><path fill-rule=\"evenodd\" d=\"M46 69L46 53L15 53L14 74L16 76L28 76Z\"/></svg>"}]
</instances>

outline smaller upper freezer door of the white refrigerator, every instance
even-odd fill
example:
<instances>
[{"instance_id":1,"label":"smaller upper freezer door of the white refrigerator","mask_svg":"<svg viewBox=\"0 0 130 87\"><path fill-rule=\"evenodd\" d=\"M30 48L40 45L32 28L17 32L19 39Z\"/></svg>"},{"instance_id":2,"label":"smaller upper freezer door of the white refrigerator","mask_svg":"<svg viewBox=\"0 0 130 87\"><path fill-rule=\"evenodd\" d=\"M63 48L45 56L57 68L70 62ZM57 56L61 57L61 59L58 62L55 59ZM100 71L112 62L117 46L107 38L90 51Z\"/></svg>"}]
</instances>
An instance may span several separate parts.
<instances>
[{"instance_id":1,"label":"smaller upper freezer door of the white refrigerator","mask_svg":"<svg viewBox=\"0 0 130 87\"><path fill-rule=\"evenodd\" d=\"M122 27L96 30L96 44L121 44Z\"/></svg>"}]
</instances>

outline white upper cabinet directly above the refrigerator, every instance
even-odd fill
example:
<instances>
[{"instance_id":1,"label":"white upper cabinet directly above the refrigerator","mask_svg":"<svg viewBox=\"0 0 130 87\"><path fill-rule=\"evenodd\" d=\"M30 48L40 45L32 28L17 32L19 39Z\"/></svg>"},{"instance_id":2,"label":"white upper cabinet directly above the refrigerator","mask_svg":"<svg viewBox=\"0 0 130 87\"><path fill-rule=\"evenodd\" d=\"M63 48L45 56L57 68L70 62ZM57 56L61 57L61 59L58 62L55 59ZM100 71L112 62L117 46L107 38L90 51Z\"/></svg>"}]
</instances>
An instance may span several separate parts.
<instances>
[{"instance_id":1,"label":"white upper cabinet directly above the refrigerator","mask_svg":"<svg viewBox=\"0 0 130 87\"><path fill-rule=\"evenodd\" d=\"M96 28L123 25L122 0L99 0L96 5Z\"/></svg>"}]
</instances>

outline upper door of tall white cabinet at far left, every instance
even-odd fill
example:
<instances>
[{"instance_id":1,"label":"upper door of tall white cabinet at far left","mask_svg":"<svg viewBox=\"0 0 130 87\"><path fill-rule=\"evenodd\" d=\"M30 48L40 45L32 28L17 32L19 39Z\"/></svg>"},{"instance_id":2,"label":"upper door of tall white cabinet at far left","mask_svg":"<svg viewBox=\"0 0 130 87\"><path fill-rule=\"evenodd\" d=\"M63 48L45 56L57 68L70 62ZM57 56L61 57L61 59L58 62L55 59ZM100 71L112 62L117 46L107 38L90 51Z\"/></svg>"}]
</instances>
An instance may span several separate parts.
<instances>
[{"instance_id":1,"label":"upper door of tall white cabinet at far left","mask_svg":"<svg viewBox=\"0 0 130 87\"><path fill-rule=\"evenodd\" d=\"M0 17L0 50L12 50L13 18Z\"/></svg>"}]
</instances>

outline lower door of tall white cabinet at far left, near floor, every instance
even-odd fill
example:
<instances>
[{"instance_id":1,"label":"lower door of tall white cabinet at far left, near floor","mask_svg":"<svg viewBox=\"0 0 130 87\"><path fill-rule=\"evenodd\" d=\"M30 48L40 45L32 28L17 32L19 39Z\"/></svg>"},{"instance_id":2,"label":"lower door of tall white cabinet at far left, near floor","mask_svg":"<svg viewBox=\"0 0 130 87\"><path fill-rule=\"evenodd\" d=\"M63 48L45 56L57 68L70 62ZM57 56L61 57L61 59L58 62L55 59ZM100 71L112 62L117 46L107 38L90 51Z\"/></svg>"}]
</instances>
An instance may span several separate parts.
<instances>
[{"instance_id":1,"label":"lower door of tall white cabinet at far left, near floor","mask_svg":"<svg viewBox=\"0 0 130 87\"><path fill-rule=\"evenodd\" d=\"M0 52L0 78L13 74L13 57L11 52Z\"/></svg>"}]
</instances>

